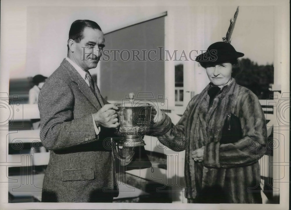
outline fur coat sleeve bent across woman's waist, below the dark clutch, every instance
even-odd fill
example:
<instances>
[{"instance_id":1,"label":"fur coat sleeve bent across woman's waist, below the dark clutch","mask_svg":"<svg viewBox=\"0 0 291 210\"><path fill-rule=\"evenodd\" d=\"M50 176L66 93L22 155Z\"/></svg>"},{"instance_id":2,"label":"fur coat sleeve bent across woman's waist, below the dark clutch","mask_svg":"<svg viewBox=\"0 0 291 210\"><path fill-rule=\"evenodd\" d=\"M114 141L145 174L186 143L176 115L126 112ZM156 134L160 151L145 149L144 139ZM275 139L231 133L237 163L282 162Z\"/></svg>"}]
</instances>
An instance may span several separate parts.
<instances>
[{"instance_id":1,"label":"fur coat sleeve bent across woman's waist, below the dark clutch","mask_svg":"<svg viewBox=\"0 0 291 210\"><path fill-rule=\"evenodd\" d=\"M265 115L257 96L248 91L242 96L239 119L243 138L231 144L210 142L204 148L204 166L240 167L258 161L267 144Z\"/></svg>"}]
</instances>

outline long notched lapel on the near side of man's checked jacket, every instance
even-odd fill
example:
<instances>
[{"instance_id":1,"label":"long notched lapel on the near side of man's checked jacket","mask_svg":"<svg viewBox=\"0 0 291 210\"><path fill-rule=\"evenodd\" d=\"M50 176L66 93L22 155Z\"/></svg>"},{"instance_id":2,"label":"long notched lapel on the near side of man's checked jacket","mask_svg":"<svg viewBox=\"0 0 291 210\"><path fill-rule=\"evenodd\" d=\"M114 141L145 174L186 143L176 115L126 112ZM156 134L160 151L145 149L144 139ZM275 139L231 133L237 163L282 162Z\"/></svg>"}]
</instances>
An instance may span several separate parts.
<instances>
[{"instance_id":1,"label":"long notched lapel on the near side of man's checked jacket","mask_svg":"<svg viewBox=\"0 0 291 210\"><path fill-rule=\"evenodd\" d=\"M68 75L70 75L72 81L78 85L78 88L84 94L84 96L86 96L86 98L88 98L88 100L94 105L94 107L97 110L99 110L101 108L101 105L100 105L98 99L96 98L94 93L91 91L90 87L87 85L85 80L77 72L77 70L66 59L63 60L61 65L63 65L65 67ZM95 84L95 82L94 82L94 84Z\"/></svg>"}]
</instances>

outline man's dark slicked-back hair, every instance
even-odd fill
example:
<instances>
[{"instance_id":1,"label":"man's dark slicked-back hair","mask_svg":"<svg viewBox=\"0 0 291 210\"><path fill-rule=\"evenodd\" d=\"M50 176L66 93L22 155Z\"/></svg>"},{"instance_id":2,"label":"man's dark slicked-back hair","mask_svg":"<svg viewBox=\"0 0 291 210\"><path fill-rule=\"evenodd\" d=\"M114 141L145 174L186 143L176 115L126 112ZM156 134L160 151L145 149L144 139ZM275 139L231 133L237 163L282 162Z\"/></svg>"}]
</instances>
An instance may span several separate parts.
<instances>
[{"instance_id":1,"label":"man's dark slicked-back hair","mask_svg":"<svg viewBox=\"0 0 291 210\"><path fill-rule=\"evenodd\" d=\"M70 28L68 41L72 39L79 43L84 38L83 32L86 27L102 31L100 26L92 20L75 20ZM69 50L69 45L67 47Z\"/></svg>"}]
</instances>

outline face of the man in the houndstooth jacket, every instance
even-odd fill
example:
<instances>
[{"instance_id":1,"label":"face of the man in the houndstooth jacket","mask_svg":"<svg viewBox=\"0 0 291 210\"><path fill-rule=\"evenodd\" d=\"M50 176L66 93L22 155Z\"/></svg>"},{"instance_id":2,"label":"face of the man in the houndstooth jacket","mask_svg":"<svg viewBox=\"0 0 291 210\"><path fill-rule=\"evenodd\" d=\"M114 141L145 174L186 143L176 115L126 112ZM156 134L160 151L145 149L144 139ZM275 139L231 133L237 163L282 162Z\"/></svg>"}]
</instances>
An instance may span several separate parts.
<instances>
[{"instance_id":1,"label":"face of the man in the houndstooth jacket","mask_svg":"<svg viewBox=\"0 0 291 210\"><path fill-rule=\"evenodd\" d=\"M85 71L96 68L104 46L103 32L86 27L80 43L74 42L72 48L74 50L72 53L73 59Z\"/></svg>"}]
</instances>

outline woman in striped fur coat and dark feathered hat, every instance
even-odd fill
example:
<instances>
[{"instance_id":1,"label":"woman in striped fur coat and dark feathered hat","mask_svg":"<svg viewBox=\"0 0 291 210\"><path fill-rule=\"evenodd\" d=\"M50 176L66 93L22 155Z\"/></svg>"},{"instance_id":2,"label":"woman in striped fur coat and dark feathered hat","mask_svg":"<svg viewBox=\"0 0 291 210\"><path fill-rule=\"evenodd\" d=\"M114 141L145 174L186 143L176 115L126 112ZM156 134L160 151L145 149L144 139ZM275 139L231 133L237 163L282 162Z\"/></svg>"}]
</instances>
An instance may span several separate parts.
<instances>
[{"instance_id":1,"label":"woman in striped fur coat and dark feathered hat","mask_svg":"<svg viewBox=\"0 0 291 210\"><path fill-rule=\"evenodd\" d=\"M177 125L159 112L159 141L186 150L188 203L262 203L258 153L266 146L266 120L257 96L232 78L242 56L230 43L210 45L196 58L210 84L191 99Z\"/></svg>"}]
</instances>

